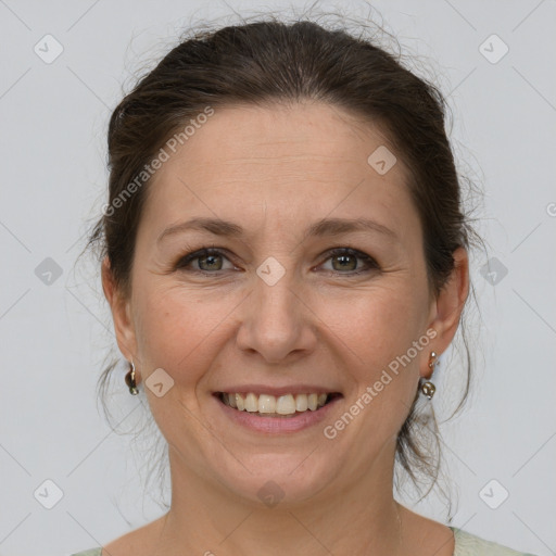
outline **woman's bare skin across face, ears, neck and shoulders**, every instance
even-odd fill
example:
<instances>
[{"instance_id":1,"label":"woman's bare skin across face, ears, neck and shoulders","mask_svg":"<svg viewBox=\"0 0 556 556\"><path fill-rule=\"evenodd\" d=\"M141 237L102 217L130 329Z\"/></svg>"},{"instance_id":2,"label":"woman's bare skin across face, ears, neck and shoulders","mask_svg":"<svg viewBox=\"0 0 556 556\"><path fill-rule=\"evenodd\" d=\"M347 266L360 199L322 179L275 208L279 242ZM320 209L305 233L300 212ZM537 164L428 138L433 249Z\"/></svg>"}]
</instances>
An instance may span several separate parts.
<instances>
[{"instance_id":1,"label":"woman's bare skin across face, ears, neck and shoulders","mask_svg":"<svg viewBox=\"0 0 556 556\"><path fill-rule=\"evenodd\" d=\"M230 106L157 172L131 294L121 294L106 261L102 280L139 388L157 368L174 380L162 397L144 388L169 445L172 507L103 556L453 554L447 527L394 501L392 472L396 434L419 378L430 376L430 352L442 354L456 332L468 258L454 252L455 269L434 295L401 156L382 176L367 163L381 144L378 128L327 104ZM188 230L157 242L193 217L230 220L243 232ZM309 225L332 217L371 219L392 233L304 238ZM223 251L216 265L198 258L189 270L176 268L205 247ZM364 271L365 260L353 255L341 266L328 254L334 248L361 251L378 268ZM269 256L286 270L274 286L256 274ZM427 330L434 338L333 440L323 426L248 431L213 396L232 383L323 384L343 394L327 419L333 424ZM283 492L271 508L257 496L270 480Z\"/></svg>"}]
</instances>

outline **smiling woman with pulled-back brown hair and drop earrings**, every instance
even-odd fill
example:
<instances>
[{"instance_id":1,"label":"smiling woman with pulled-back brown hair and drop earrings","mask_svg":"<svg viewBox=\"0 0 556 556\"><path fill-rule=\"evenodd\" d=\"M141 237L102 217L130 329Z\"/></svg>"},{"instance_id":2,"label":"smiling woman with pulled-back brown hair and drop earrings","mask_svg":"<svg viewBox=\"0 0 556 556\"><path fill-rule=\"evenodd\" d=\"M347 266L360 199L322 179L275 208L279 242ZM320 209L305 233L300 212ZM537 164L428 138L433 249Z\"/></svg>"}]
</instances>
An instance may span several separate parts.
<instances>
[{"instance_id":1,"label":"smiling woman with pulled-back brown hair and drop earrings","mask_svg":"<svg viewBox=\"0 0 556 556\"><path fill-rule=\"evenodd\" d=\"M469 292L434 87L308 21L226 27L125 97L109 154L91 243L172 506L80 556L519 554L392 493Z\"/></svg>"}]
</instances>

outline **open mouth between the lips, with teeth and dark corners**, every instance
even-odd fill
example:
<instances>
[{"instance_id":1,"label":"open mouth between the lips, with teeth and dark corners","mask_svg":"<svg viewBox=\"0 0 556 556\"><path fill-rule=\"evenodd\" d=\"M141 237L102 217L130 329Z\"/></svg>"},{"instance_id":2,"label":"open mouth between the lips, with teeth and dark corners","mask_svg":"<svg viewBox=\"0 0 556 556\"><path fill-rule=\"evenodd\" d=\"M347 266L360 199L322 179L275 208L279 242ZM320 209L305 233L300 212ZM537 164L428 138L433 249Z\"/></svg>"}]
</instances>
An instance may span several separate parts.
<instances>
[{"instance_id":1,"label":"open mouth between the lips, with teeth and dark corners","mask_svg":"<svg viewBox=\"0 0 556 556\"><path fill-rule=\"evenodd\" d=\"M317 412L325 405L338 397L342 397L339 392L309 393L309 394L285 394L275 396L271 394L254 394L249 392L229 393L215 392L214 394L223 404L237 409L247 412L260 417L295 417L306 412Z\"/></svg>"}]
</instances>

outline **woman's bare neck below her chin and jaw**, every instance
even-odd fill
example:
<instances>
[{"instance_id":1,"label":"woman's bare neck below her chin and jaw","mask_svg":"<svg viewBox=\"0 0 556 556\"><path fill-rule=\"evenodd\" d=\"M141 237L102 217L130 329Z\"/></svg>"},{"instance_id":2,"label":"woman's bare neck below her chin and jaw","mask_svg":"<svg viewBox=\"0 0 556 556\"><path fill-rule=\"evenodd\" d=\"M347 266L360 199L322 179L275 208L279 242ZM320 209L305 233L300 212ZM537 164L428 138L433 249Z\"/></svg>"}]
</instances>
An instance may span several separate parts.
<instances>
[{"instance_id":1,"label":"woman's bare neck below her chin and jaw","mask_svg":"<svg viewBox=\"0 0 556 556\"><path fill-rule=\"evenodd\" d=\"M392 495L393 453L305 502L273 507L230 495L192 472L172 447L169 454L172 507L161 521L154 556L404 553L404 508Z\"/></svg>"}]
</instances>

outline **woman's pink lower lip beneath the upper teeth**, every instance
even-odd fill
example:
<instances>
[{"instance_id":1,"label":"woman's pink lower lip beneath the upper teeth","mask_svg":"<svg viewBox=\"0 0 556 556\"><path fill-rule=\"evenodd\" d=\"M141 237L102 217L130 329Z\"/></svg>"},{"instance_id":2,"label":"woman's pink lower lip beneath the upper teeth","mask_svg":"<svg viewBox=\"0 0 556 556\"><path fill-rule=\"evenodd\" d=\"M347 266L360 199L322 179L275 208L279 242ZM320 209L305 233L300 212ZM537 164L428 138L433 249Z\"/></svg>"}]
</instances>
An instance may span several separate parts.
<instances>
[{"instance_id":1,"label":"woman's pink lower lip beneath the upper teeth","mask_svg":"<svg viewBox=\"0 0 556 556\"><path fill-rule=\"evenodd\" d=\"M342 396L334 397L329 403L312 412L307 409L304 413L294 415L293 417L261 417L255 413L240 412L229 405L226 405L218 396L214 396L216 403L222 407L224 414L232 421L256 432L265 432L268 434L280 434L287 432L296 432L318 425L332 410L337 402Z\"/></svg>"}]
</instances>

